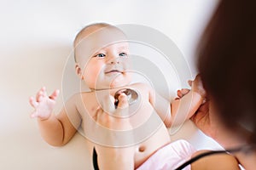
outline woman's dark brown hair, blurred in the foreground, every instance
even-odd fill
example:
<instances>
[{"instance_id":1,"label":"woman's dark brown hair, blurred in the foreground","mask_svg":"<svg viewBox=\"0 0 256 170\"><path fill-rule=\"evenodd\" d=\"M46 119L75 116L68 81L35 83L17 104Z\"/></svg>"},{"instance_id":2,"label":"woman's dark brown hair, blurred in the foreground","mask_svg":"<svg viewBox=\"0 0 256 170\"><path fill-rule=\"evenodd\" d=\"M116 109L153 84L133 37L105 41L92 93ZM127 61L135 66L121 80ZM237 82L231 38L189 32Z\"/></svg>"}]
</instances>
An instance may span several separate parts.
<instances>
[{"instance_id":1,"label":"woman's dark brown hair, blurred in the foreground","mask_svg":"<svg viewBox=\"0 0 256 170\"><path fill-rule=\"evenodd\" d=\"M224 0L197 49L207 94L230 128L252 131L256 143L256 1ZM236 133L236 132L235 132Z\"/></svg>"}]
</instances>

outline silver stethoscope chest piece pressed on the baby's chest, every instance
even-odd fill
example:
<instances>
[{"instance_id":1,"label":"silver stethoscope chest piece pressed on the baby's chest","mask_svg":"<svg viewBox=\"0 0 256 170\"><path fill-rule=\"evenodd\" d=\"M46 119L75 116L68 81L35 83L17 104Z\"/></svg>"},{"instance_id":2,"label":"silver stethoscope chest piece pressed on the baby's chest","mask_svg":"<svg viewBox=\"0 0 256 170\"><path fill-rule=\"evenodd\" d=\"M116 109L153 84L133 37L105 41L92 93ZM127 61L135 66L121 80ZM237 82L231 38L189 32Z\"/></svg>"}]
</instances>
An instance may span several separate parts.
<instances>
[{"instance_id":1,"label":"silver stethoscope chest piece pressed on the baby's chest","mask_svg":"<svg viewBox=\"0 0 256 170\"><path fill-rule=\"evenodd\" d=\"M129 105L133 105L137 102L138 94L135 90L132 90L131 88L121 88L114 94L114 105L117 107L119 104L119 95L125 94L128 99Z\"/></svg>"}]
</instances>

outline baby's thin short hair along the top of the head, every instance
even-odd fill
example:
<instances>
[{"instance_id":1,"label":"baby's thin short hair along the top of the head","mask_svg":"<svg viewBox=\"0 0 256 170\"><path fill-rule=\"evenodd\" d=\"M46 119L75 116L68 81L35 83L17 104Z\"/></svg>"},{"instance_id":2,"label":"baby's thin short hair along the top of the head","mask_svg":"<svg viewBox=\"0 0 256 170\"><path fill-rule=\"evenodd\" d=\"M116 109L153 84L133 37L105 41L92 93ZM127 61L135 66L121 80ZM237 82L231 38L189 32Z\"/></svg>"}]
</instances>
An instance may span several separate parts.
<instances>
[{"instance_id":1,"label":"baby's thin short hair along the top of the head","mask_svg":"<svg viewBox=\"0 0 256 170\"><path fill-rule=\"evenodd\" d=\"M92 27L103 28L103 27L107 27L107 26L112 26L112 25L110 25L108 23L103 23L103 22L101 22L101 23L93 23L93 24L90 24L88 26L84 26L84 28L81 31L79 31L79 33L77 34L77 36L75 37L75 39L73 41L73 48L74 48L74 52L73 53L74 53L74 60L75 60L75 62L77 62L75 48L79 44L79 42L84 38L83 37L83 33L85 31L87 31L88 29L92 28Z\"/></svg>"}]
</instances>

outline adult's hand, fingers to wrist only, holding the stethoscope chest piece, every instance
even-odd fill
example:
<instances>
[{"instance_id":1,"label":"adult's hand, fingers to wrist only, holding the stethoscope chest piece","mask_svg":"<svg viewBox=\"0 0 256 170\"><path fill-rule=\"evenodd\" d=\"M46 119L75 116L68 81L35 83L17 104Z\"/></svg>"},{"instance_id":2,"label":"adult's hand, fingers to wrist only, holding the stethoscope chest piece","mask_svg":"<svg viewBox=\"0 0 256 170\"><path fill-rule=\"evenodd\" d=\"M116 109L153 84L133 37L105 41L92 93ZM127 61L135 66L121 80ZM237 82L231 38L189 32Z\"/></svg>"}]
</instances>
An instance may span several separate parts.
<instances>
[{"instance_id":1,"label":"adult's hand, fingers to wrist only, holding the stethoscope chest piece","mask_svg":"<svg viewBox=\"0 0 256 170\"><path fill-rule=\"evenodd\" d=\"M110 147L123 147L134 143L134 134L130 122L129 104L125 94L119 95L119 104L114 106L113 96L102 97L101 106L93 116L91 124L96 143Z\"/></svg>"}]
</instances>

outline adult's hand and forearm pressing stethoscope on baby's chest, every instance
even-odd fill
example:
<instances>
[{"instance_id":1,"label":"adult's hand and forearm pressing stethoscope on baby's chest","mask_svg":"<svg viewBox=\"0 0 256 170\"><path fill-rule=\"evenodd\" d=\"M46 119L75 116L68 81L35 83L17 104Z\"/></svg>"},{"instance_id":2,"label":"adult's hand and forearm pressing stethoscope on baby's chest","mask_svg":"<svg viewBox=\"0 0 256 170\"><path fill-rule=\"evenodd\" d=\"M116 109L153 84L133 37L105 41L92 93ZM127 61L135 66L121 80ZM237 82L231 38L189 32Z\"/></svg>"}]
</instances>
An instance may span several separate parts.
<instances>
[{"instance_id":1,"label":"adult's hand and forearm pressing stethoscope on baby's chest","mask_svg":"<svg viewBox=\"0 0 256 170\"><path fill-rule=\"evenodd\" d=\"M129 117L129 104L125 94L119 95L114 106L113 96L107 96L102 108L96 111L94 127L99 139L95 149L100 169L134 169L134 142ZM102 128L103 127L103 128Z\"/></svg>"}]
</instances>

